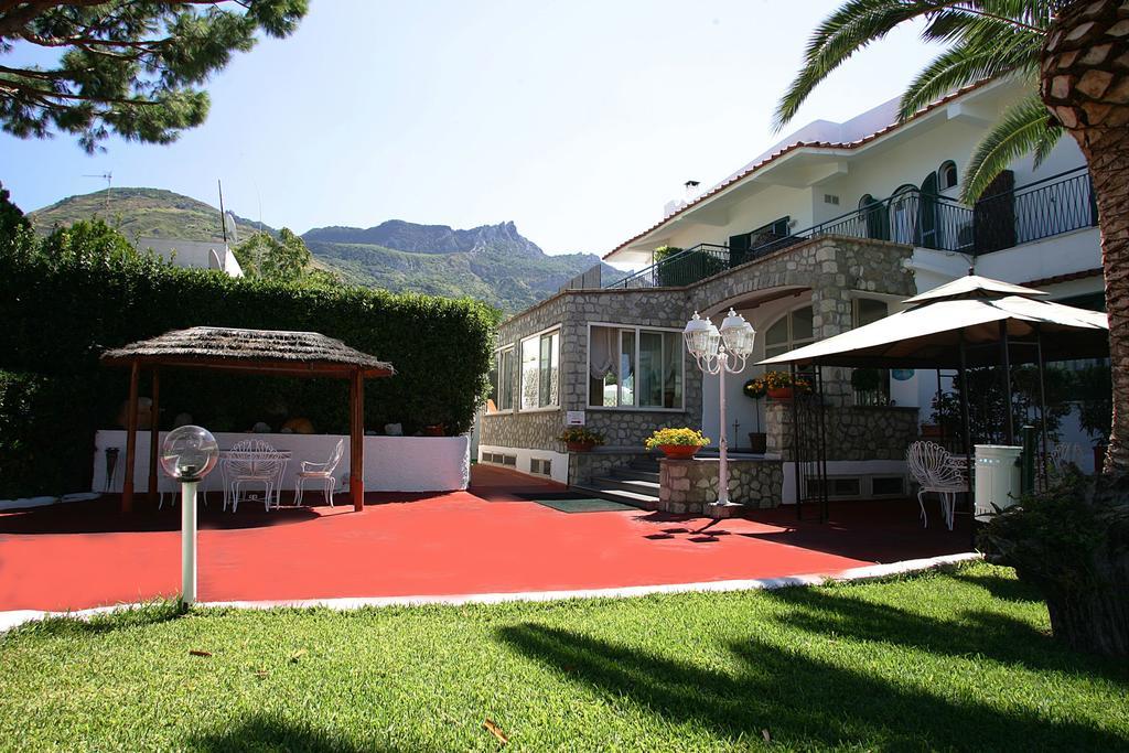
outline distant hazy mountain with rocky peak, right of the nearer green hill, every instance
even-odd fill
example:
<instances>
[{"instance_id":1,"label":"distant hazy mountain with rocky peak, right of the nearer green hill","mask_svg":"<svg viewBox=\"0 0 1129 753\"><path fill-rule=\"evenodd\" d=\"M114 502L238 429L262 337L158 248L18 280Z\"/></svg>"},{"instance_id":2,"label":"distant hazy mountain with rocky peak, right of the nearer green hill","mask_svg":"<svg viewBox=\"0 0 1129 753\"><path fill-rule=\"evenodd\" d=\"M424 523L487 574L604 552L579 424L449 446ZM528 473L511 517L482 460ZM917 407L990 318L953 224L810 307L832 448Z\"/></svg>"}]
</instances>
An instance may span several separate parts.
<instances>
[{"instance_id":1,"label":"distant hazy mountain with rocky peak, right of the nearer green hill","mask_svg":"<svg viewBox=\"0 0 1129 753\"><path fill-rule=\"evenodd\" d=\"M513 222L456 230L390 220L365 229L315 228L301 237L315 259L355 284L471 296L509 313L599 264L595 254L550 256Z\"/></svg>"}]
</instances>

